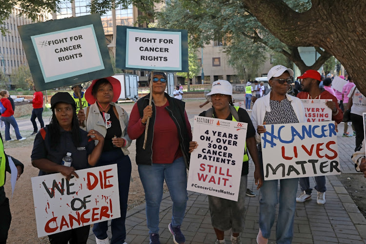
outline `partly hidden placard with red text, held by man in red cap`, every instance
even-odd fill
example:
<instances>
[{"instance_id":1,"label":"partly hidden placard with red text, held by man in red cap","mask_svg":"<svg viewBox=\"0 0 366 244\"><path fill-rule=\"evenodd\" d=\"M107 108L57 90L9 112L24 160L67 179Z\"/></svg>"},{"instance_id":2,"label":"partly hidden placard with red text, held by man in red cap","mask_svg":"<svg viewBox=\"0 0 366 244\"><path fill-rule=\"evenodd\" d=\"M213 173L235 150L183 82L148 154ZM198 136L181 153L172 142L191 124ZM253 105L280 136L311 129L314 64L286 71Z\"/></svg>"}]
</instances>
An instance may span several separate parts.
<instances>
[{"instance_id":1,"label":"partly hidden placard with red text, held by man in red cap","mask_svg":"<svg viewBox=\"0 0 366 244\"><path fill-rule=\"evenodd\" d=\"M302 99L305 108L306 122L331 121L332 110L325 105L328 99Z\"/></svg>"}]
</instances>

